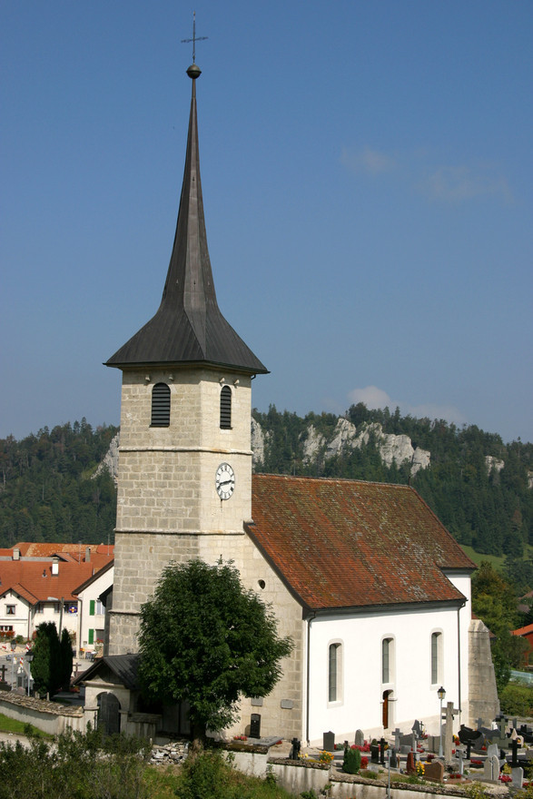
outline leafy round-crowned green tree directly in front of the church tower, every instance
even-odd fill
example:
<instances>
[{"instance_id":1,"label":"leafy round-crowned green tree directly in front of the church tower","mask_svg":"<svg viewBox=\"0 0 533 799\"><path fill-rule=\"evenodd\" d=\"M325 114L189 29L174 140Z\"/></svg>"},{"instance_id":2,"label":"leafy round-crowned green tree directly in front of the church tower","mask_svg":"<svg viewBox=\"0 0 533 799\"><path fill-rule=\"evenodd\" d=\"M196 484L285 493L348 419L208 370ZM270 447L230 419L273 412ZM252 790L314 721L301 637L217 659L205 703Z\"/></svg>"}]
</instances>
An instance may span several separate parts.
<instances>
[{"instance_id":1,"label":"leafy round-crowned green tree directly in front of the church tower","mask_svg":"<svg viewBox=\"0 0 533 799\"><path fill-rule=\"evenodd\" d=\"M220 561L171 563L141 608L139 677L152 701L186 701L192 734L237 717L240 695L268 695L281 676L290 638L277 635L270 607Z\"/></svg>"}]
</instances>

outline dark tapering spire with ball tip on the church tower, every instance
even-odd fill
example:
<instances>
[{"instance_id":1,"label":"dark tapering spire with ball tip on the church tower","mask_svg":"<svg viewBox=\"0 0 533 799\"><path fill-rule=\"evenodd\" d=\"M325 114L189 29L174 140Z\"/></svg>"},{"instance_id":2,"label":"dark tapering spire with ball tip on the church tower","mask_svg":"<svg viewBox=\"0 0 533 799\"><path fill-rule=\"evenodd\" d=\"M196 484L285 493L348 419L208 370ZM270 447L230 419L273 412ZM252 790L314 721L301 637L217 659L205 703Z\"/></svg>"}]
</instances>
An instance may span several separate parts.
<instances>
[{"instance_id":1,"label":"dark tapering spire with ball tip on the church tower","mask_svg":"<svg viewBox=\"0 0 533 799\"><path fill-rule=\"evenodd\" d=\"M203 216L196 118L196 80L201 70L192 64L187 74L192 79L187 152L163 298L155 316L105 365L122 369L198 364L265 374L268 370L224 319L216 300Z\"/></svg>"}]
</instances>

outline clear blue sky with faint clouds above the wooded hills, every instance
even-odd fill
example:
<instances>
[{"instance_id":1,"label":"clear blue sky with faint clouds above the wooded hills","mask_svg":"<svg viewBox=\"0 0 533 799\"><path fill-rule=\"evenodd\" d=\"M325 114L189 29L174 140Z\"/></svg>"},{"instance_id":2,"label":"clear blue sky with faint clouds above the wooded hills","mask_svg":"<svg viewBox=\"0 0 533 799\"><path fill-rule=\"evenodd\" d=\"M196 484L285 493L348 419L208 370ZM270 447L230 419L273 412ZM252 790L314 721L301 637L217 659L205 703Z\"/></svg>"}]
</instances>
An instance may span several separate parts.
<instances>
[{"instance_id":1,"label":"clear blue sky with faint clouds above the wooded hills","mask_svg":"<svg viewBox=\"0 0 533 799\"><path fill-rule=\"evenodd\" d=\"M0 5L0 437L117 424L157 310L192 9L219 304L253 405L352 402L533 440L533 4Z\"/></svg>"}]
</instances>

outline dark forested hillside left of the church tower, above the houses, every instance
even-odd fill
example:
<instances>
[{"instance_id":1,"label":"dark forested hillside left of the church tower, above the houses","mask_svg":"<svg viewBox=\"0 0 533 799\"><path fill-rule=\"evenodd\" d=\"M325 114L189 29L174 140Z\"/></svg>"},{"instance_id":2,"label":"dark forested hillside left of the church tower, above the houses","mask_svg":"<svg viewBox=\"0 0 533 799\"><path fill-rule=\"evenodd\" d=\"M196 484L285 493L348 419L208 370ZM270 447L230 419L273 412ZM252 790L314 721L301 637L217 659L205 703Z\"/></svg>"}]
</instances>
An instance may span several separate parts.
<instances>
[{"instance_id":1,"label":"dark forested hillside left of the church tower, above the houses","mask_svg":"<svg viewBox=\"0 0 533 799\"><path fill-rule=\"evenodd\" d=\"M0 440L0 547L17 541L113 542L114 480L104 458L117 428L85 419Z\"/></svg>"}]
</instances>

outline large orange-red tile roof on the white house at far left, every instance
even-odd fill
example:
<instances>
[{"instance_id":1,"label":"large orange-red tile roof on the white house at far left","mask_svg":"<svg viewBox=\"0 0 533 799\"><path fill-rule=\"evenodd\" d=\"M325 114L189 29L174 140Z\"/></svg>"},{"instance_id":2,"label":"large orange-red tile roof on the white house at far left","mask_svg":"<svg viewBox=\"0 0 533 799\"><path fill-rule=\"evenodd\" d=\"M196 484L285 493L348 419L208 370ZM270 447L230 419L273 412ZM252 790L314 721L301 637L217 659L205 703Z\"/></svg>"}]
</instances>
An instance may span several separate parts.
<instances>
[{"instance_id":1,"label":"large orange-red tile roof on the white house at far left","mask_svg":"<svg viewBox=\"0 0 533 799\"><path fill-rule=\"evenodd\" d=\"M74 589L91 577L94 569L94 563L59 563L59 574L53 576L51 563L0 560L0 596L11 588L32 605L48 597L74 602Z\"/></svg>"}]
</instances>

